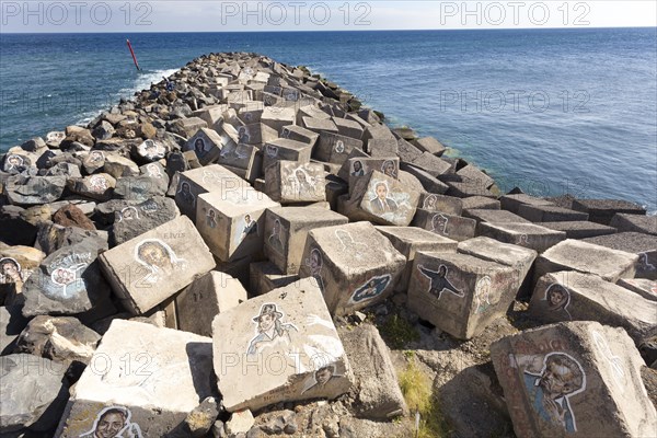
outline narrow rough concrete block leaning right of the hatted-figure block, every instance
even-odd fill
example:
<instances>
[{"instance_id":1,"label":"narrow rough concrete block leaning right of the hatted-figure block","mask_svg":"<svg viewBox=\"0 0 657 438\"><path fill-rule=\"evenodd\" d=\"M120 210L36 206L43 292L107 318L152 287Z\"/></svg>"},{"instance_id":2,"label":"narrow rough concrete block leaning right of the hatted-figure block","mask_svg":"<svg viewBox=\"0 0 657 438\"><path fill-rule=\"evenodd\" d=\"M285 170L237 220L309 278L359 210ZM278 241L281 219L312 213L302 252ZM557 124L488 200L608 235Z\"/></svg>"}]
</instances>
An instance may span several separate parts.
<instances>
[{"instance_id":1,"label":"narrow rough concrete block leaning right of the hatted-figure block","mask_svg":"<svg viewBox=\"0 0 657 438\"><path fill-rule=\"evenodd\" d=\"M357 415L379 420L406 415L390 349L377 327L362 324L339 335L356 378Z\"/></svg>"}]
</instances>

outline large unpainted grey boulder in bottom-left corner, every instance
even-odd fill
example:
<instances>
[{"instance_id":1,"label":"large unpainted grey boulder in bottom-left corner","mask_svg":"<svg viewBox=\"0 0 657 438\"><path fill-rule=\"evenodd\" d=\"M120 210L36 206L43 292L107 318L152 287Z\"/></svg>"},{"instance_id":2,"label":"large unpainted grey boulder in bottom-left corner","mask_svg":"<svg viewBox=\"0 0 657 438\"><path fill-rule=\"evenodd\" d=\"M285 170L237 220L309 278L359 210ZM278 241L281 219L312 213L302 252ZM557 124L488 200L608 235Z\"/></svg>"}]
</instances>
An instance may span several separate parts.
<instances>
[{"instance_id":1,"label":"large unpainted grey boulder in bottom-left corner","mask_svg":"<svg viewBox=\"0 0 657 438\"><path fill-rule=\"evenodd\" d=\"M68 400L65 371L66 367L38 356L0 356L0 434L55 427Z\"/></svg>"}]
</instances>

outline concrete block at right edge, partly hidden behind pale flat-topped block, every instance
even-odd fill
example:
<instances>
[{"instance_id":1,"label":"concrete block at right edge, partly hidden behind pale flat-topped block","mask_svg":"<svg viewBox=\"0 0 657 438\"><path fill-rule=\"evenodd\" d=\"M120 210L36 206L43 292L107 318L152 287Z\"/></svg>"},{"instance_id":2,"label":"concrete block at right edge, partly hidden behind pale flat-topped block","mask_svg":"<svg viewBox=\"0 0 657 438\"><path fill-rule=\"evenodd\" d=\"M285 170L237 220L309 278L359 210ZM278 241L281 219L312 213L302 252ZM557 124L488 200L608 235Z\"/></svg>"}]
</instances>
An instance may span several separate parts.
<instances>
[{"instance_id":1,"label":"concrete block at right edge, partly hidden behind pale flat-topped block","mask_svg":"<svg viewBox=\"0 0 657 438\"><path fill-rule=\"evenodd\" d=\"M620 232L585 239L584 242L638 255L635 276L657 280L657 235Z\"/></svg>"}]
</instances>

